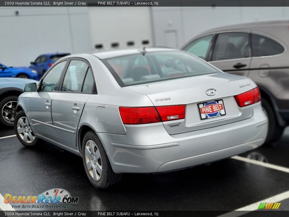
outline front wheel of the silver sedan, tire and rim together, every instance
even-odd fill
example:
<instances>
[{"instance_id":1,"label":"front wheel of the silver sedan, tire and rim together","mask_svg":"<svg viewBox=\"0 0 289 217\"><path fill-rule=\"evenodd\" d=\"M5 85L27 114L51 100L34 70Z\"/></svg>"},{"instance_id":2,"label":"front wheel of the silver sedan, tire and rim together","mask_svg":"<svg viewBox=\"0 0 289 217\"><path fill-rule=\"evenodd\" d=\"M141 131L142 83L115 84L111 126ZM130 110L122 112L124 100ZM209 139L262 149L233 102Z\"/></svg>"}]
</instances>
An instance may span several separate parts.
<instances>
[{"instance_id":1,"label":"front wheel of the silver sedan, tire and rim together","mask_svg":"<svg viewBox=\"0 0 289 217\"><path fill-rule=\"evenodd\" d=\"M26 147L33 147L39 143L39 139L33 134L24 111L17 113L14 120L14 130L18 140Z\"/></svg>"}]
</instances>

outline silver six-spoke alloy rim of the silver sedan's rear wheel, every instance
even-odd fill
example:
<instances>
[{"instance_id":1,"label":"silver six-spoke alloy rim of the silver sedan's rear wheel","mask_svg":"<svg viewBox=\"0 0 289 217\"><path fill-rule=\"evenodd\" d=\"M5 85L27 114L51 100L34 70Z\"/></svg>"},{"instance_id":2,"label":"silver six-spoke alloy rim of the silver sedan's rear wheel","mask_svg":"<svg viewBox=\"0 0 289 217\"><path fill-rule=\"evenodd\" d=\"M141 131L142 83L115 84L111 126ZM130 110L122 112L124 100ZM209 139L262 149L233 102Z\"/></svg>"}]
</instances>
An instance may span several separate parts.
<instances>
[{"instance_id":1,"label":"silver six-spoke alloy rim of the silver sedan's rear wheel","mask_svg":"<svg viewBox=\"0 0 289 217\"><path fill-rule=\"evenodd\" d=\"M85 144L85 163L93 180L99 181L102 175L101 156L97 145L92 140L88 140Z\"/></svg>"}]
</instances>

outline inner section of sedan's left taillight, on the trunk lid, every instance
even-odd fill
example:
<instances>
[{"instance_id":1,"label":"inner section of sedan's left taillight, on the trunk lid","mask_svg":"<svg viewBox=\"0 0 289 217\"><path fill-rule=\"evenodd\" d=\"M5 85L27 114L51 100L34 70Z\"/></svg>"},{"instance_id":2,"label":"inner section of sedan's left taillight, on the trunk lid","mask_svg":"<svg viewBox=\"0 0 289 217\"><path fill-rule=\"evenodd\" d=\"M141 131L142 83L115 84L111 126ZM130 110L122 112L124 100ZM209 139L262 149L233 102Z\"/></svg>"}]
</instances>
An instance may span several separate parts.
<instances>
[{"instance_id":1,"label":"inner section of sedan's left taillight, on the trunk lid","mask_svg":"<svg viewBox=\"0 0 289 217\"><path fill-rule=\"evenodd\" d=\"M162 121L172 121L185 118L185 105L170 105L156 107Z\"/></svg>"}]
</instances>

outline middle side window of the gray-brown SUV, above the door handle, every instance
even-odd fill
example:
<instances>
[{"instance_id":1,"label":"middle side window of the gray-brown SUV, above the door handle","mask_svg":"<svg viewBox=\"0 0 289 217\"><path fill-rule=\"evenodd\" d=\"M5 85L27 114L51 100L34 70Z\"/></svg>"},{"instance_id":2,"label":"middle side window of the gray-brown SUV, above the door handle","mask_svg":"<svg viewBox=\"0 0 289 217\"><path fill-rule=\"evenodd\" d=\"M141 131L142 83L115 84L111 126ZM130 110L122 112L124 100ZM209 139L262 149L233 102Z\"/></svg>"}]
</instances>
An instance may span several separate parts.
<instances>
[{"instance_id":1,"label":"middle side window of the gray-brown SUV, above the door handle","mask_svg":"<svg viewBox=\"0 0 289 217\"><path fill-rule=\"evenodd\" d=\"M212 61L249 57L248 33L221 33L218 35Z\"/></svg>"}]
</instances>

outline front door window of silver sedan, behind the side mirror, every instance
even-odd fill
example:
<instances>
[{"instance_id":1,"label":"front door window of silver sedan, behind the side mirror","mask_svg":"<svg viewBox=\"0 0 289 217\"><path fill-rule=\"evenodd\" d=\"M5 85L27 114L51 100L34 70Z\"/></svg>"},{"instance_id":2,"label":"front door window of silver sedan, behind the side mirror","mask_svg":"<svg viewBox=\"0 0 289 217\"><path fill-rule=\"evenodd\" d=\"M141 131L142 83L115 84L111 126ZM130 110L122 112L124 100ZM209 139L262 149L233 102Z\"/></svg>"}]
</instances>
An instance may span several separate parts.
<instances>
[{"instance_id":1,"label":"front door window of silver sedan, behind the side mirror","mask_svg":"<svg viewBox=\"0 0 289 217\"><path fill-rule=\"evenodd\" d=\"M42 81L41 90L42 91L56 91L57 85L64 69L66 61L60 62L55 65L48 74L44 77Z\"/></svg>"}]
</instances>

